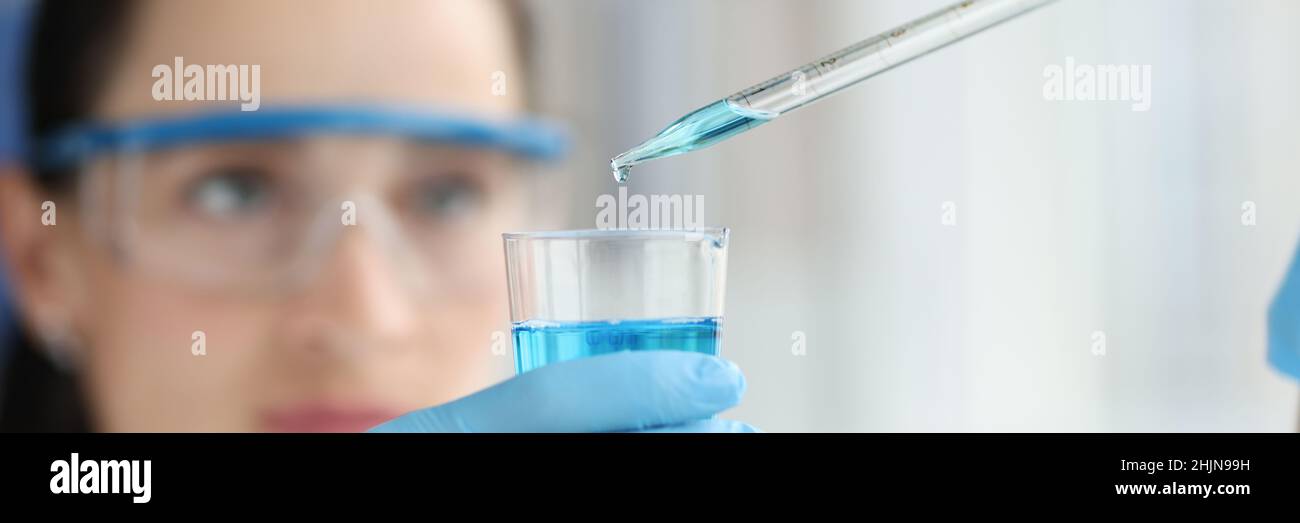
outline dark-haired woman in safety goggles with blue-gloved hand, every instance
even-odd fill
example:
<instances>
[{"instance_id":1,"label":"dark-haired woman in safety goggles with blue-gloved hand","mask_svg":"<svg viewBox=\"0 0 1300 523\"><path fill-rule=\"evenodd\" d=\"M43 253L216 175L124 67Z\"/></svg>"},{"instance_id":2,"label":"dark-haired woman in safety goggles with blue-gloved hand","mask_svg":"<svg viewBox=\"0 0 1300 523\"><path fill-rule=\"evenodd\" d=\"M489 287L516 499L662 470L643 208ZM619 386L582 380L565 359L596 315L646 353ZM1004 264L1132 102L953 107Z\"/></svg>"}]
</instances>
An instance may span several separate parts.
<instances>
[{"instance_id":1,"label":"dark-haired woman in safety goggles with blue-gloved hand","mask_svg":"<svg viewBox=\"0 0 1300 523\"><path fill-rule=\"evenodd\" d=\"M10 364L4 428L749 431L714 418L738 369L696 354L480 390L508 366L499 234L536 228L520 164L558 143L523 117L517 13L43 3L36 147L0 180L39 343Z\"/></svg>"}]
</instances>

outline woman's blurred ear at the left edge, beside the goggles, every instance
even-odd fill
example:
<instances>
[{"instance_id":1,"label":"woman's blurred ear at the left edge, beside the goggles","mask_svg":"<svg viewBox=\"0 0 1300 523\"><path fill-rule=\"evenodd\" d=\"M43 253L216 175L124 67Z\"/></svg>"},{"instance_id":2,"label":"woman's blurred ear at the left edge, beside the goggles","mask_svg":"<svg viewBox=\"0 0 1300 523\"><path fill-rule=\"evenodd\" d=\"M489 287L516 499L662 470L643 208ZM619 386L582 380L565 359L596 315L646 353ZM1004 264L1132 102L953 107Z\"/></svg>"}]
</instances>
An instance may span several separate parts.
<instances>
[{"instance_id":1,"label":"woman's blurred ear at the left edge, beside the goggles","mask_svg":"<svg viewBox=\"0 0 1300 523\"><path fill-rule=\"evenodd\" d=\"M29 332L52 336L72 329L68 248L60 248L58 228L73 228L72 209L38 189L25 169L0 167L0 254L20 320ZM47 203L48 202L48 203ZM60 332L64 330L64 332Z\"/></svg>"}]
</instances>

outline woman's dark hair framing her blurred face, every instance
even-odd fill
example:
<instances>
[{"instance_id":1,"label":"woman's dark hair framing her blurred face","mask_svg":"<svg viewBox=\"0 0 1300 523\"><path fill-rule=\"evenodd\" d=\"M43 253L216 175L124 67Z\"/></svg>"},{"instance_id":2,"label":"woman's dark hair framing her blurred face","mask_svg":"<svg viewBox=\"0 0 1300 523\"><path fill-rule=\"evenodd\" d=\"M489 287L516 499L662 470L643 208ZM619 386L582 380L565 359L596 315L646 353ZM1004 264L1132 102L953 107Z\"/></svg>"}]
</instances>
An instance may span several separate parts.
<instances>
[{"instance_id":1,"label":"woman's dark hair framing her blurred face","mask_svg":"<svg viewBox=\"0 0 1300 523\"><path fill-rule=\"evenodd\" d=\"M517 0L503 0L523 66L529 62L528 16ZM134 0L56 1L35 4L27 46L27 135L39 143L68 125L90 117L122 51ZM73 172L36 169L38 185L64 194ZM0 340L4 342L4 340ZM0 380L0 432L84 432L88 411L77 376L46 356L30 332L18 328L5 376Z\"/></svg>"}]
</instances>

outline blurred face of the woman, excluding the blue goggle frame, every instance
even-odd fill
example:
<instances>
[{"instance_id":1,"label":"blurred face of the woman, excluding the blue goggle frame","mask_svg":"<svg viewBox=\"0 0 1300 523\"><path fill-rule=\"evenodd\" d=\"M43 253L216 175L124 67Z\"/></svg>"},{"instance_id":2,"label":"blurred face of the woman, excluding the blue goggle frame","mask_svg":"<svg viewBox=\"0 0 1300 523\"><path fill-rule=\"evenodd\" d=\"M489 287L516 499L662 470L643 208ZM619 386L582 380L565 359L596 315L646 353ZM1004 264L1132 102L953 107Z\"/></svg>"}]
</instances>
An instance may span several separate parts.
<instances>
[{"instance_id":1,"label":"blurred face of the woman, excluding the blue goggle frame","mask_svg":"<svg viewBox=\"0 0 1300 523\"><path fill-rule=\"evenodd\" d=\"M147 1L129 27L96 120L231 104L156 101L151 70L176 57L260 65L264 109L382 101L489 116L521 111L515 36L498 3ZM122 256L88 239L86 229L95 224L87 209L75 202L68 203L73 212L60 207L57 263L66 269L52 271L62 289L53 294L78 340L95 428L356 431L508 372L510 358L493 350L507 312L499 233L517 226L521 207L507 163L389 139L322 137L295 147L306 152L292 157L316 161L286 168L292 176L250 168L263 154L256 147L164 155L157 167L139 170L138 185L157 206L126 203L144 206L130 212L152 216L159 230L176 235L134 230L138 243L237 277L261 267L256 260L282 262L290 250L276 247L296 245L302 238L290 235L308 230L259 215L259 206L302 196L298 217L324 206L335 216L320 224L333 228L309 230L332 241L307 256L311 271L296 271L303 281L294 285L196 285L152 271L131 252ZM358 226L342 224L344 200L356 202ZM372 200L384 206L363 203ZM376 208L387 211L380 216ZM162 217L148 215L155 211ZM398 248L370 226L380 217L424 220L411 217L421 212L442 220L437 233L412 237L406 228ZM186 230L199 233L181 234ZM226 260L242 248L264 258ZM419 285L408 277L411 267ZM194 354L199 332L203 355Z\"/></svg>"}]
</instances>

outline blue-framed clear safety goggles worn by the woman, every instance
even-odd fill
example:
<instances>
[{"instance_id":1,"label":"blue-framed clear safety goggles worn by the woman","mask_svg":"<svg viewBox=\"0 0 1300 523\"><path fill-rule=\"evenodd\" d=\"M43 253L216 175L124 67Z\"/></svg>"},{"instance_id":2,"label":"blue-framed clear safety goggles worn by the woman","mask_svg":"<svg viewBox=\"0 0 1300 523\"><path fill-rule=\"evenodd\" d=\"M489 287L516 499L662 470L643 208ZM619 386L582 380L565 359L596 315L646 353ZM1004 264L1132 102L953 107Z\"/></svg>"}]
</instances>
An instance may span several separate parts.
<instances>
[{"instance_id":1,"label":"blue-framed clear safety goggles worn by the woman","mask_svg":"<svg viewBox=\"0 0 1300 523\"><path fill-rule=\"evenodd\" d=\"M264 108L75 126L35 163L75 169L83 222L143 271L265 291L311 278L350 230L411 289L499 278L494 220L520 161L558 157L538 121L380 107ZM355 226L355 229L352 229Z\"/></svg>"}]
</instances>

